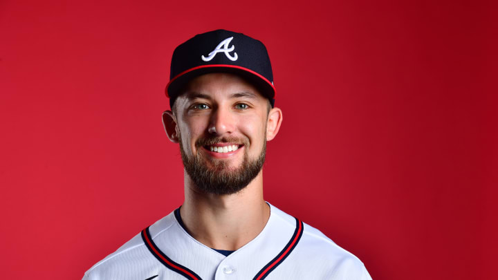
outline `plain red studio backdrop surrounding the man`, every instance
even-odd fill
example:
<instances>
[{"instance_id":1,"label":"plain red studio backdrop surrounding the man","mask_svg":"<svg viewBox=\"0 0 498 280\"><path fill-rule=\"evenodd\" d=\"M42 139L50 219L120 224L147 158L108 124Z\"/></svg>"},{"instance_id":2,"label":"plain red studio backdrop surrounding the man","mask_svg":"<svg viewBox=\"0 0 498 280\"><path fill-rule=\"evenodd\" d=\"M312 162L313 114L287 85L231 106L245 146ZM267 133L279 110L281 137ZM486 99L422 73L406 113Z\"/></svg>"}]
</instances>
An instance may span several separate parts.
<instances>
[{"instance_id":1,"label":"plain red studio backdrop surrounding the man","mask_svg":"<svg viewBox=\"0 0 498 280\"><path fill-rule=\"evenodd\" d=\"M490 2L29 2L0 1L2 279L80 279L181 205L163 90L176 45L216 28L273 62L266 200L374 279L496 274Z\"/></svg>"}]
</instances>

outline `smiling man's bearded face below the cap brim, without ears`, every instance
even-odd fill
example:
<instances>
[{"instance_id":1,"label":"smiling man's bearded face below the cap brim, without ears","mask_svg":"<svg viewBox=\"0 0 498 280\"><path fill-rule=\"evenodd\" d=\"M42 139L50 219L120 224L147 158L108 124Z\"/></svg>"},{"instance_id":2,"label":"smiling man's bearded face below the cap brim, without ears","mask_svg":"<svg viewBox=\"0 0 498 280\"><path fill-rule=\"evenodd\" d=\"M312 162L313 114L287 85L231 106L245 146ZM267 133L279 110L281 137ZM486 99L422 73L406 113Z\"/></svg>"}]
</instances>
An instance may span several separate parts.
<instances>
[{"instance_id":1,"label":"smiling man's bearded face below the cap brim, without ears","mask_svg":"<svg viewBox=\"0 0 498 280\"><path fill-rule=\"evenodd\" d=\"M259 174L269 103L254 86L237 75L206 74L174 106L183 165L199 190L234 194Z\"/></svg>"}]
</instances>

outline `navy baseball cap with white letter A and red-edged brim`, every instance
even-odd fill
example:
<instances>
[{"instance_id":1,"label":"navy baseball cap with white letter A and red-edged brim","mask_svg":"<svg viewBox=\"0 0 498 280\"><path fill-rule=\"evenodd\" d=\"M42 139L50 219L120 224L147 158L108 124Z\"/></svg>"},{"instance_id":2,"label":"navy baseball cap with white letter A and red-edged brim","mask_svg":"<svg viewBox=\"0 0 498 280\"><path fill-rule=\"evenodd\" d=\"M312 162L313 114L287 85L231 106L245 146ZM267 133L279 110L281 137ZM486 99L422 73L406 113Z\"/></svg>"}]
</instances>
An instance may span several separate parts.
<instances>
[{"instance_id":1,"label":"navy baseball cap with white letter A and red-edged brim","mask_svg":"<svg viewBox=\"0 0 498 280\"><path fill-rule=\"evenodd\" d=\"M196 35L173 52L166 96L169 106L194 77L207 73L234 73L246 78L275 105L275 86L268 51L261 41L242 33L214 30Z\"/></svg>"}]
</instances>

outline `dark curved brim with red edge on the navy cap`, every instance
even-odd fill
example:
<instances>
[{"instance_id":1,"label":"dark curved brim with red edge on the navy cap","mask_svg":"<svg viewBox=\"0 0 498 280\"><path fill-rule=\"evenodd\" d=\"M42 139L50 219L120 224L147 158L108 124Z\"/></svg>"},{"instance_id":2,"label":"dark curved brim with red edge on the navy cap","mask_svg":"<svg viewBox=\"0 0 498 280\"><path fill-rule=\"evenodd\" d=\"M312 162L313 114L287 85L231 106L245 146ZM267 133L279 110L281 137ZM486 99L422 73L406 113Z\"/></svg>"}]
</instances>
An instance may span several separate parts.
<instances>
[{"instance_id":1,"label":"dark curved brim with red edge on the navy cap","mask_svg":"<svg viewBox=\"0 0 498 280\"><path fill-rule=\"evenodd\" d=\"M256 86L256 88L261 91L261 94L263 94L268 98L268 100L270 100L270 103L273 107L275 100L275 86L273 86L272 82L268 81L262 75L259 75L255 71L252 71L248 68L229 64L203 65L183 71L182 73L176 75L176 77L170 80L167 84L167 97L169 97L170 99L176 98L178 96L178 93L183 89L187 82L194 79L194 77L198 77L200 75L208 73L233 73L244 77L246 80L248 80L248 82Z\"/></svg>"}]
</instances>

